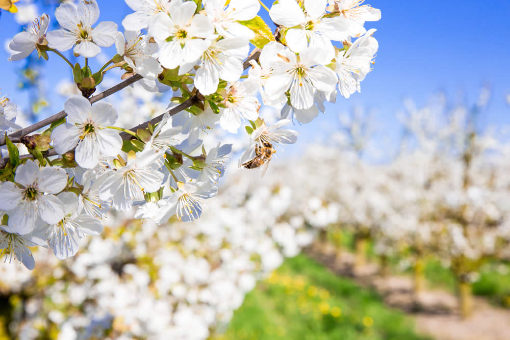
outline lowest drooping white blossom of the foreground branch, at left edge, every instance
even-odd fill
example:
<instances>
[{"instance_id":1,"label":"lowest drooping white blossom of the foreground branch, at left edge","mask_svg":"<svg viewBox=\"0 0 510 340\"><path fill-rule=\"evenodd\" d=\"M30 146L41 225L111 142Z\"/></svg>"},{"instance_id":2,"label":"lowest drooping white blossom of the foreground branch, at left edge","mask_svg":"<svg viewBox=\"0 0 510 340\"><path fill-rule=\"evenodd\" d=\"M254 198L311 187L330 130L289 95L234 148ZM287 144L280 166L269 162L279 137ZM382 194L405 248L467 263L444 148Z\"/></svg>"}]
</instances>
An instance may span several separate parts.
<instances>
[{"instance_id":1,"label":"lowest drooping white blossom of the foreground branch, at left edge","mask_svg":"<svg viewBox=\"0 0 510 340\"><path fill-rule=\"evenodd\" d=\"M33 246L47 247L46 241L32 234L20 235L8 231L5 225L0 225L0 257L5 254L5 260L9 258L9 263L14 258L20 261L27 269L34 269L35 260L29 248Z\"/></svg>"}]
</instances>

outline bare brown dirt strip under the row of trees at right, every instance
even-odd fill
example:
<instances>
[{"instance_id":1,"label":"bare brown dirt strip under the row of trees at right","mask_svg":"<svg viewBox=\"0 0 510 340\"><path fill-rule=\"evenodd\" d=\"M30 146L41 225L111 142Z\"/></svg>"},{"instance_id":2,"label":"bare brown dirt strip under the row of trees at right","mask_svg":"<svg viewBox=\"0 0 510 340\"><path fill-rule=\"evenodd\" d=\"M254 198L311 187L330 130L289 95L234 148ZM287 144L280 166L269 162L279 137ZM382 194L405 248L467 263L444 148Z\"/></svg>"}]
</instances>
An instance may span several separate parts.
<instances>
[{"instance_id":1,"label":"bare brown dirt strip under the row of trees at right","mask_svg":"<svg viewBox=\"0 0 510 340\"><path fill-rule=\"evenodd\" d=\"M413 282L407 276L378 275L378 267L369 264L353 273L353 255L334 253L312 247L305 252L331 272L352 278L360 285L372 287L386 304L399 308L416 321L418 331L437 340L510 340L510 310L498 308L475 298L473 315L461 320L454 295L440 290L413 296Z\"/></svg>"}]
</instances>

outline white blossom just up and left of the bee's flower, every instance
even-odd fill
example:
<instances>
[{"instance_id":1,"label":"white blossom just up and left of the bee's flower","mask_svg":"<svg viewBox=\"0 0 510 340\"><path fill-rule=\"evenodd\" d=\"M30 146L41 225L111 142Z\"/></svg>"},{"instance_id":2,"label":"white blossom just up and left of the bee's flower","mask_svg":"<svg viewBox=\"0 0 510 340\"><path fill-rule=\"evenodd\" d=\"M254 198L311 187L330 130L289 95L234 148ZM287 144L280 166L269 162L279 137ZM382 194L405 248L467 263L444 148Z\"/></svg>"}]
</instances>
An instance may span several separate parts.
<instances>
[{"instance_id":1,"label":"white blossom just up and left of the bee's flower","mask_svg":"<svg viewBox=\"0 0 510 340\"><path fill-rule=\"evenodd\" d=\"M250 89L251 87L251 89ZM225 100L220 107L221 128L235 134L245 119L256 120L259 117L260 103L249 82L234 82L227 85Z\"/></svg>"}]
</instances>

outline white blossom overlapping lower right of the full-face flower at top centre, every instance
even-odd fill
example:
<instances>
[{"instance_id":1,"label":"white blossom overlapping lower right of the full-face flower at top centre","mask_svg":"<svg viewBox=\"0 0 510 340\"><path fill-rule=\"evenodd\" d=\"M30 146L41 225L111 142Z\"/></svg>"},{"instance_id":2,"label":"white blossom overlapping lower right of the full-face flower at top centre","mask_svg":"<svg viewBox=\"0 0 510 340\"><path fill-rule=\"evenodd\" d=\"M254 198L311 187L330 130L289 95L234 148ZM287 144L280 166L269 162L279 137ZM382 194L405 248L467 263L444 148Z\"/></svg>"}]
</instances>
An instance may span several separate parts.
<instances>
[{"instance_id":1,"label":"white blossom overlapping lower right of the full-face flower at top centre","mask_svg":"<svg viewBox=\"0 0 510 340\"><path fill-rule=\"evenodd\" d=\"M217 36L207 39L210 45L202 54L200 68L195 74L195 87L203 95L216 92L220 79L227 82L239 80L243 73L243 59L249 52L246 38L216 39Z\"/></svg>"}]
</instances>

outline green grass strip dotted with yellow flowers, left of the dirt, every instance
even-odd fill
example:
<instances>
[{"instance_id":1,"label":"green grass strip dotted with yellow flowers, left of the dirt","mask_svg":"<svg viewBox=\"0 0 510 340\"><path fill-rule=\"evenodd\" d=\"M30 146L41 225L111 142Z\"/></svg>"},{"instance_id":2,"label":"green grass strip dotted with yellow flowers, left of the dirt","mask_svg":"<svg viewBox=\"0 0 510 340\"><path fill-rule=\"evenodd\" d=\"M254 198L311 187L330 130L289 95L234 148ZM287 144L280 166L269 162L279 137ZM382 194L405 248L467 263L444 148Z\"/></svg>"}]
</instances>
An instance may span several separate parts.
<instances>
[{"instance_id":1,"label":"green grass strip dotted with yellow flowers, left of the dirt","mask_svg":"<svg viewBox=\"0 0 510 340\"><path fill-rule=\"evenodd\" d=\"M304 255L258 284L217 339L418 340L413 323L380 296Z\"/></svg>"}]
</instances>

